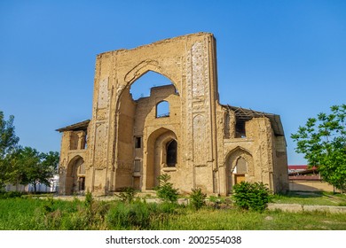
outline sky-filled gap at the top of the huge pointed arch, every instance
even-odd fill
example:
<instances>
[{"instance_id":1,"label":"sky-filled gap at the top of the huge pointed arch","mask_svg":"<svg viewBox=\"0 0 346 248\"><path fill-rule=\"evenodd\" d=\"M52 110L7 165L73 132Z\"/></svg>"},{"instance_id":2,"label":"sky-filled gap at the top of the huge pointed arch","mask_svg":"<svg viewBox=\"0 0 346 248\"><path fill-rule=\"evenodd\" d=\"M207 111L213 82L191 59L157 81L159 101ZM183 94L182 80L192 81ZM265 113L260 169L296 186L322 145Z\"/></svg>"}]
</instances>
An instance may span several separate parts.
<instances>
[{"instance_id":1,"label":"sky-filled gap at the top of the huge pointed arch","mask_svg":"<svg viewBox=\"0 0 346 248\"><path fill-rule=\"evenodd\" d=\"M141 97L149 97L151 88L169 84L172 82L167 77L149 71L131 85L130 94L133 100L138 100Z\"/></svg>"}]
</instances>

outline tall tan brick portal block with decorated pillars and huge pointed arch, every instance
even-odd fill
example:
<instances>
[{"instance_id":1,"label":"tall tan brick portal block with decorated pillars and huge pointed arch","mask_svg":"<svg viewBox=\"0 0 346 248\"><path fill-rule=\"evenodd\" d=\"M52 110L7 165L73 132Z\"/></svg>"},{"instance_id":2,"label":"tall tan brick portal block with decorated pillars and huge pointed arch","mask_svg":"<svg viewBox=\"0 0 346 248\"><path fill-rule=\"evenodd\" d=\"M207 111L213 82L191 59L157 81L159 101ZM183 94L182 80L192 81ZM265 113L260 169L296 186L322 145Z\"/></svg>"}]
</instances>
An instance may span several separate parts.
<instances>
[{"instance_id":1,"label":"tall tan brick portal block with decorated pillars and huge pointed arch","mask_svg":"<svg viewBox=\"0 0 346 248\"><path fill-rule=\"evenodd\" d=\"M172 85L167 88L162 86L164 90L153 87L151 96L156 93L155 97L133 100L130 88L151 72L168 78ZM147 85L147 88L153 84ZM180 139L177 140L178 146L187 147L189 151L186 151L186 158L192 161L190 134L196 133L198 127L193 125L191 119L201 112L202 105L208 106L202 111L205 123L210 126L207 128L208 140L199 140L193 142L193 145L199 147L202 143L216 143L218 96L215 40L212 34L184 35L136 49L99 54L94 89L89 128L89 147L92 152L88 153L87 163L95 168L90 177L93 179L91 185L92 190L99 194L133 185L134 177L141 177L140 189L144 190L145 185L149 184L153 187L153 180L147 182L145 178L145 145L147 138L157 128L174 130ZM139 100L142 100L143 105L138 104ZM155 118L155 106L163 100L169 102L169 117ZM188 130L187 134L182 128ZM136 146L134 141L138 141ZM213 150L212 145L207 148L204 152L206 161L212 161L208 164L212 163L216 169L216 149ZM211 181L206 164L201 166L201 179L208 178Z\"/></svg>"}]
</instances>

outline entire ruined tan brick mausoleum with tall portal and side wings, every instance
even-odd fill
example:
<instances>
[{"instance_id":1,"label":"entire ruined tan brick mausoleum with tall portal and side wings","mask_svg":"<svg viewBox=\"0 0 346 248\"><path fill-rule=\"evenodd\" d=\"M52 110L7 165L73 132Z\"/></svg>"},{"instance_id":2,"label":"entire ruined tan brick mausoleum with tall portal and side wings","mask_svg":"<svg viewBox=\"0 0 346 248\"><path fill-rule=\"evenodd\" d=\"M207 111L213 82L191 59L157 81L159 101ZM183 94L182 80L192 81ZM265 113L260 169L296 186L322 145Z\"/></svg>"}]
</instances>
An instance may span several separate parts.
<instances>
[{"instance_id":1,"label":"entire ruined tan brick mausoleum with tall portal and side wings","mask_svg":"<svg viewBox=\"0 0 346 248\"><path fill-rule=\"evenodd\" d=\"M133 100L130 86L149 71L172 84ZM169 112L159 115L163 104ZM99 54L91 120L58 131L61 194L153 190L160 174L182 193L227 195L241 181L288 190L279 115L219 103L212 34Z\"/></svg>"}]
</instances>

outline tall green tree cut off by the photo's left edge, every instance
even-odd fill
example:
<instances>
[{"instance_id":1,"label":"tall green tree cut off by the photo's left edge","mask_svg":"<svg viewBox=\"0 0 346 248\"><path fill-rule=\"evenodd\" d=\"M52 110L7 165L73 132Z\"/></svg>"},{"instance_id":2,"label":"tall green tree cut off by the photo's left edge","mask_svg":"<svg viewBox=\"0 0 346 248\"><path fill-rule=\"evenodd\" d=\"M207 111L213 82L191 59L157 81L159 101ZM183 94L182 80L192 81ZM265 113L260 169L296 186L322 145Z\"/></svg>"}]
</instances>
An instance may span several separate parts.
<instances>
[{"instance_id":1,"label":"tall green tree cut off by the photo's left edge","mask_svg":"<svg viewBox=\"0 0 346 248\"><path fill-rule=\"evenodd\" d=\"M4 120L4 112L0 111L0 190L4 190L4 183L8 182L11 173L10 157L18 149L20 138L15 135L14 117Z\"/></svg>"}]
</instances>

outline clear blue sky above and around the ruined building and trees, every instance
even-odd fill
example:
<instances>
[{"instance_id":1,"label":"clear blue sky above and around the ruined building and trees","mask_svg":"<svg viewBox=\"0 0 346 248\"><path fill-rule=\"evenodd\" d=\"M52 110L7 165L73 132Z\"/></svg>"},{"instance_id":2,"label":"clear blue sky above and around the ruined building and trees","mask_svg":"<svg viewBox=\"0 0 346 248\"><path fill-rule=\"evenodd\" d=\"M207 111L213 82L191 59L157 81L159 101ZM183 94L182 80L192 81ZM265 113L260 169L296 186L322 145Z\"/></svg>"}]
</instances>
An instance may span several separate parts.
<instances>
[{"instance_id":1,"label":"clear blue sky above and around the ruined building and trees","mask_svg":"<svg viewBox=\"0 0 346 248\"><path fill-rule=\"evenodd\" d=\"M1 0L0 110L59 151L55 129L91 118L98 53L196 32L216 36L220 102L279 114L305 164L290 134L346 103L346 1Z\"/></svg>"}]
</instances>

